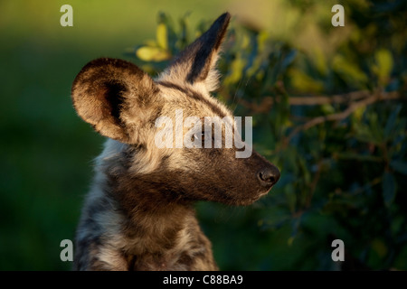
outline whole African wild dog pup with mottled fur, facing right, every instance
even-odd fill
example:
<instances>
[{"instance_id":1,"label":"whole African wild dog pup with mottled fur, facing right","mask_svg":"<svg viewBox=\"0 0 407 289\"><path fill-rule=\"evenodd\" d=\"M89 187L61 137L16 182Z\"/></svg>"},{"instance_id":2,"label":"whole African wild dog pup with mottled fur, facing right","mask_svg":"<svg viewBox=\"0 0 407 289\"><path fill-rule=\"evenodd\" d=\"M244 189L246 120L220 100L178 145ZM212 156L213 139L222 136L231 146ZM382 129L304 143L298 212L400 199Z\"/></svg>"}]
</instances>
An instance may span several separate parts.
<instances>
[{"instance_id":1,"label":"whole African wild dog pup with mottled fur, facing right","mask_svg":"<svg viewBox=\"0 0 407 289\"><path fill-rule=\"evenodd\" d=\"M156 79L128 61L90 61L72 85L77 113L108 138L82 210L74 269L215 270L194 202L248 205L279 170L232 148L157 148L158 117L232 117L210 92L231 16L222 14ZM204 136L206 137L206 135Z\"/></svg>"}]
</instances>

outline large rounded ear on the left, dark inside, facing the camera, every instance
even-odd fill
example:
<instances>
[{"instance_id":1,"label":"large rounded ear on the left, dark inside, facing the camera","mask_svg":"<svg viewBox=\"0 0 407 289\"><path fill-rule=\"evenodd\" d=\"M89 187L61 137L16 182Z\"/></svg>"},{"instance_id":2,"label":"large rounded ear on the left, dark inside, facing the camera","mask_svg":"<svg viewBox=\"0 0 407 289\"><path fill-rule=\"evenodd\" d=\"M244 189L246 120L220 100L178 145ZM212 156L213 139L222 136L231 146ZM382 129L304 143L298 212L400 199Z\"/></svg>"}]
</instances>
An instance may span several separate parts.
<instances>
[{"instance_id":1,"label":"large rounded ear on the left, dark inside, facing the camera","mask_svg":"<svg viewBox=\"0 0 407 289\"><path fill-rule=\"evenodd\" d=\"M78 115L100 135L139 144L139 129L154 115L158 91L133 63L100 58L80 70L71 96Z\"/></svg>"}]
</instances>

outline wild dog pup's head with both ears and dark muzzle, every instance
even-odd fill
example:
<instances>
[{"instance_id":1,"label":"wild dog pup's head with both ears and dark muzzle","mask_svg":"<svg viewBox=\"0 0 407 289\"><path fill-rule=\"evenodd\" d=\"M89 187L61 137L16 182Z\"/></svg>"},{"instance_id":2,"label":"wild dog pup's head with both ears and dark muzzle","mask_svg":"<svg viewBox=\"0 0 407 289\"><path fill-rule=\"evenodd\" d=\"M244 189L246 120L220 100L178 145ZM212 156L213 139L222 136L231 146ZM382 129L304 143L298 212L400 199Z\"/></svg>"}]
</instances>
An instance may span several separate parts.
<instances>
[{"instance_id":1,"label":"wild dog pup's head with both ears and dark muzzle","mask_svg":"<svg viewBox=\"0 0 407 289\"><path fill-rule=\"evenodd\" d=\"M279 170L241 140L239 121L210 94L230 18L222 14L156 79L128 61L90 61L72 99L99 134L135 148L126 154L131 177L179 198L243 205L270 191Z\"/></svg>"}]
</instances>

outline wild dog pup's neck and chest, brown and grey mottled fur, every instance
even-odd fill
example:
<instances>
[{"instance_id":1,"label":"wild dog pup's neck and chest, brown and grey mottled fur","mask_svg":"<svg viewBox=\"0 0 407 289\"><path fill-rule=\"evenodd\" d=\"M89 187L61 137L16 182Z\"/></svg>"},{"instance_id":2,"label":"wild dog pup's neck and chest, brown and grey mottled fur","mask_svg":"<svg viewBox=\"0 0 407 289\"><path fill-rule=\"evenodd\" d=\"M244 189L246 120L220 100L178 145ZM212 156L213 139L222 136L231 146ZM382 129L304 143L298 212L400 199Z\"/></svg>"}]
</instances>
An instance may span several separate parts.
<instances>
[{"instance_id":1,"label":"wild dog pup's neck and chest, brown and grey mottled fur","mask_svg":"<svg viewBox=\"0 0 407 289\"><path fill-rule=\"evenodd\" d=\"M102 154L82 211L75 267L93 270L215 270L194 200L175 176L129 172L124 146ZM179 179L179 178L178 178Z\"/></svg>"}]
</instances>

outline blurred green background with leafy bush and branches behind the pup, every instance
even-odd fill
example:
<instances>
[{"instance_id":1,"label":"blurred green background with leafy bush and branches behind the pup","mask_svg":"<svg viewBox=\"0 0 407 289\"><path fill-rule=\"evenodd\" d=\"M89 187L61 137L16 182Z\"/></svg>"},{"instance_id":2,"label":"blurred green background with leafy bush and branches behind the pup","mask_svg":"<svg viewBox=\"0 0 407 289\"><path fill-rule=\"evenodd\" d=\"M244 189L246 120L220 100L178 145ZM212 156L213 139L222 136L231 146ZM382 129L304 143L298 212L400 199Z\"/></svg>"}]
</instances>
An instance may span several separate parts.
<instances>
[{"instance_id":1,"label":"blurred green background with leafy bush and branches behind the pup","mask_svg":"<svg viewBox=\"0 0 407 289\"><path fill-rule=\"evenodd\" d=\"M64 4L73 27L60 25ZM81 67L117 57L154 75L168 59L137 50L173 55L225 11L233 18L216 97L253 116L255 147L282 176L247 208L197 204L220 268L407 269L407 5L341 1L345 26L333 27L336 4L1 1L0 270L71 268L60 242L74 238L104 141L71 106ZM335 238L345 263L331 259Z\"/></svg>"}]
</instances>

